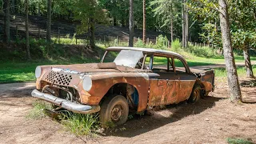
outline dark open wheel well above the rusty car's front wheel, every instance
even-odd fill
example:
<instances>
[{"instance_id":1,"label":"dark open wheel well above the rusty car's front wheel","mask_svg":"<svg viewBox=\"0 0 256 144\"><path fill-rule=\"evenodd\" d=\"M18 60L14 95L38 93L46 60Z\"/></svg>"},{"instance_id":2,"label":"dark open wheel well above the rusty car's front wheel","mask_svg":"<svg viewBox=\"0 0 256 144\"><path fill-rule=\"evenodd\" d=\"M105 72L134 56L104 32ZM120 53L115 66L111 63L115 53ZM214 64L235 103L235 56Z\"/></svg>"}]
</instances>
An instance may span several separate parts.
<instances>
[{"instance_id":1,"label":"dark open wheel well above the rusty car's front wheel","mask_svg":"<svg viewBox=\"0 0 256 144\"><path fill-rule=\"evenodd\" d=\"M122 95L127 99L129 106L133 104L134 106L138 106L138 90L129 83L117 83L111 86L110 90L107 91L99 104L101 105L102 102L111 95Z\"/></svg>"}]
</instances>

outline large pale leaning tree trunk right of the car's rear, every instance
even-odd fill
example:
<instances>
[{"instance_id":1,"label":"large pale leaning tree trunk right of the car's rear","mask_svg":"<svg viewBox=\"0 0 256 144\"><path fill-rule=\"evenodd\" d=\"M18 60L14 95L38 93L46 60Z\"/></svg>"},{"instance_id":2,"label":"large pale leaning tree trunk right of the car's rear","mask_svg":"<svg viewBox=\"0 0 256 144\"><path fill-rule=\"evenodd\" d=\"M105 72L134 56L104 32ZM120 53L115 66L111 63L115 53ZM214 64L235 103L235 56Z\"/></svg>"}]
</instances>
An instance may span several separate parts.
<instances>
[{"instance_id":1,"label":"large pale leaning tree trunk right of the car's rear","mask_svg":"<svg viewBox=\"0 0 256 144\"><path fill-rule=\"evenodd\" d=\"M231 45L230 22L226 0L218 0L219 18L222 30L222 45L226 62L228 84L230 87L230 100L237 102L241 98L241 90L238 82L238 73L234 63L234 54Z\"/></svg>"}]
</instances>

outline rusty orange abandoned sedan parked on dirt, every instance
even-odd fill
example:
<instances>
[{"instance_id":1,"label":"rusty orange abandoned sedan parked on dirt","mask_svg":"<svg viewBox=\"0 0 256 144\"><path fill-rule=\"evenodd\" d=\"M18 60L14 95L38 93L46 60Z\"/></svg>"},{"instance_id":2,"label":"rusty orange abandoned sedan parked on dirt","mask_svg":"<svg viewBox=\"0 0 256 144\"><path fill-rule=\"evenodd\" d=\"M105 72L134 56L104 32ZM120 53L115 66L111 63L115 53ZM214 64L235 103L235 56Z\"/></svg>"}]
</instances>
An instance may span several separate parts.
<instances>
[{"instance_id":1,"label":"rusty orange abandoned sedan parked on dirt","mask_svg":"<svg viewBox=\"0 0 256 144\"><path fill-rule=\"evenodd\" d=\"M214 90L214 70L190 70L167 50L110 47L100 63L38 66L32 96L100 122L126 122L130 110L197 102ZM57 109L58 109L57 108Z\"/></svg>"}]
</instances>

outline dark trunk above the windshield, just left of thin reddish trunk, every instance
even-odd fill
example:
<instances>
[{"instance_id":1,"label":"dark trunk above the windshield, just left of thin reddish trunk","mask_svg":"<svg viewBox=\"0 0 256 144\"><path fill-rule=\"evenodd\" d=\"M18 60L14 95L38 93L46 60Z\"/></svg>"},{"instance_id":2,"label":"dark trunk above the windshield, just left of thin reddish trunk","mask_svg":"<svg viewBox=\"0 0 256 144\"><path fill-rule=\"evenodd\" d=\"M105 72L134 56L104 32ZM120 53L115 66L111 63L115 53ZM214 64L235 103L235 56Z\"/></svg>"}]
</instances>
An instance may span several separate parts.
<instances>
[{"instance_id":1,"label":"dark trunk above the windshield, just left of thin reddish trunk","mask_svg":"<svg viewBox=\"0 0 256 144\"><path fill-rule=\"evenodd\" d=\"M129 46L134 46L134 2L130 0L130 12L129 12Z\"/></svg>"}]
</instances>

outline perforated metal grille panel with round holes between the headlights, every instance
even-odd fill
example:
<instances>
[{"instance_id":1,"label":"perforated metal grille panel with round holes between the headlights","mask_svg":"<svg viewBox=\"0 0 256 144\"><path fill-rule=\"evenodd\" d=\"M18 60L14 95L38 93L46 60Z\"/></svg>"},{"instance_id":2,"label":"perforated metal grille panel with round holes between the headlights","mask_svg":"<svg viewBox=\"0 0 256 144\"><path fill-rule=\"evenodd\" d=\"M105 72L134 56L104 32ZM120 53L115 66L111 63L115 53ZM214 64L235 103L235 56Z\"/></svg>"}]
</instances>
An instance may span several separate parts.
<instances>
[{"instance_id":1,"label":"perforated metal grille panel with round holes between the headlights","mask_svg":"<svg viewBox=\"0 0 256 144\"><path fill-rule=\"evenodd\" d=\"M56 85L69 86L71 80L72 80L72 75L63 74L55 71L50 71L50 73L46 76L46 81Z\"/></svg>"}]
</instances>

